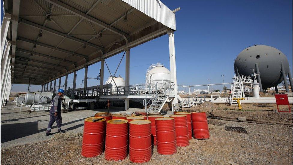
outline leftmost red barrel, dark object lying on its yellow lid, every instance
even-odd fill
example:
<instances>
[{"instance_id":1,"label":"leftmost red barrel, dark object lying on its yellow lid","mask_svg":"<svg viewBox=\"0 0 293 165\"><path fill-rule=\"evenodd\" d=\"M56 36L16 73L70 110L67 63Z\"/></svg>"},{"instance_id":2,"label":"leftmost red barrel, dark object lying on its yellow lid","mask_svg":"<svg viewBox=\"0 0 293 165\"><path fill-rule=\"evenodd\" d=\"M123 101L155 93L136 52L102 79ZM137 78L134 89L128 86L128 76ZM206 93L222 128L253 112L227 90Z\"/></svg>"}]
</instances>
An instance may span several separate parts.
<instances>
[{"instance_id":1,"label":"leftmost red barrel, dark object lying on its yellow lid","mask_svg":"<svg viewBox=\"0 0 293 165\"><path fill-rule=\"evenodd\" d=\"M90 117L84 120L81 146L81 155L84 157L100 155L104 150L106 119L94 122L95 119L100 119L100 117Z\"/></svg>"}]
</instances>

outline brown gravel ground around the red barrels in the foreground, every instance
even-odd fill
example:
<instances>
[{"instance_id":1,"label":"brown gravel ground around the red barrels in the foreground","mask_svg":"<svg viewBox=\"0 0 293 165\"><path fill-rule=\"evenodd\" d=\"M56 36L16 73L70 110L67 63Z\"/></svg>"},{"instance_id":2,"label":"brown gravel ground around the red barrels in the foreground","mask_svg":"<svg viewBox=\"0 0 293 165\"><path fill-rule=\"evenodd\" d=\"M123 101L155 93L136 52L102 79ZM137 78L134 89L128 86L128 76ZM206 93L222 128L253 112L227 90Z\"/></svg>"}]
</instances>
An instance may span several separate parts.
<instances>
[{"instance_id":1,"label":"brown gravel ground around the red barrels in the foreground","mask_svg":"<svg viewBox=\"0 0 293 165\"><path fill-rule=\"evenodd\" d=\"M210 139L192 139L174 155L160 155L155 146L145 164L292 164L292 127L221 122L225 124L209 124ZM229 132L225 126L244 127L248 133ZM107 161L104 154L84 158L81 142L80 134L59 133L51 140L1 150L1 164L134 164L128 157Z\"/></svg>"}]
</instances>

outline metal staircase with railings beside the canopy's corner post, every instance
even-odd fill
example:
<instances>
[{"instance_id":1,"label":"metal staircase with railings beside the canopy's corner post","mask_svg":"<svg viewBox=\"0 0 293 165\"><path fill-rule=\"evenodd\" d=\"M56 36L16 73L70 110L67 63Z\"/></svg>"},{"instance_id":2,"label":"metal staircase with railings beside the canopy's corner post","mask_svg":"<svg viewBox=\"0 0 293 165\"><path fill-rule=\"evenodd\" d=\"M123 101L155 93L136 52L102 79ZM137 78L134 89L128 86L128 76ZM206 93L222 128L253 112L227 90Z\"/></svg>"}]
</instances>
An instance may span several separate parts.
<instances>
[{"instance_id":1,"label":"metal staircase with railings beside the canopy's corner post","mask_svg":"<svg viewBox=\"0 0 293 165\"><path fill-rule=\"evenodd\" d=\"M146 112L153 111L153 112L160 112L165 105L166 101L169 98L169 95L167 93L168 91L168 84L170 82L165 82L159 90L157 89L157 85L154 85L151 91L154 91L153 94L149 93L145 99L143 99L143 106L145 106ZM152 95L152 97L148 98L148 96ZM149 100L148 100L149 99ZM148 101L147 101L148 100ZM147 108L147 105L149 105L149 108Z\"/></svg>"}]
</instances>

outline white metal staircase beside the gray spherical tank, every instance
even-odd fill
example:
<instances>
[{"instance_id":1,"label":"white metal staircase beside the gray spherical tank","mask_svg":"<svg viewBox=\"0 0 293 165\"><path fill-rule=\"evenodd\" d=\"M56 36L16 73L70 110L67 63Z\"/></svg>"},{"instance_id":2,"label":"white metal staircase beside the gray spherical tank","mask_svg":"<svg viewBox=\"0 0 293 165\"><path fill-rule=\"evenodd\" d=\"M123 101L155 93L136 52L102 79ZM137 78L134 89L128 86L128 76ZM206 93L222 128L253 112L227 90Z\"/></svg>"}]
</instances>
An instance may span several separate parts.
<instances>
[{"instance_id":1,"label":"white metal staircase beside the gray spherical tank","mask_svg":"<svg viewBox=\"0 0 293 165\"><path fill-rule=\"evenodd\" d=\"M249 76L240 75L240 77L234 75L232 91L230 95L230 105L238 105L237 100L233 98L245 97L243 86L252 87L252 79ZM241 100L240 100L241 103Z\"/></svg>"}]
</instances>

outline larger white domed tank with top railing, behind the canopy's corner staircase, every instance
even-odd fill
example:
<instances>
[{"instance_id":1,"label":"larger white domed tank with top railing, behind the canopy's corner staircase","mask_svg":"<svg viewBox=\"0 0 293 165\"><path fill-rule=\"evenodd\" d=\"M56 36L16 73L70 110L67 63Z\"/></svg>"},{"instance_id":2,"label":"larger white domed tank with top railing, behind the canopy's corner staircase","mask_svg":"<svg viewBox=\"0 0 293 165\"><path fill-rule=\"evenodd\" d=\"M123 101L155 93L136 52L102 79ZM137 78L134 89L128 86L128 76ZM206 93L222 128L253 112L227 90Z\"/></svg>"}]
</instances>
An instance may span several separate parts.
<instances>
[{"instance_id":1,"label":"larger white domed tank with top railing, behind the canopy's corner staircase","mask_svg":"<svg viewBox=\"0 0 293 165\"><path fill-rule=\"evenodd\" d=\"M171 72L163 64L157 63L151 65L146 71L146 83L158 83L158 88L166 81L171 81ZM168 87L171 83L168 83Z\"/></svg>"}]
</instances>

